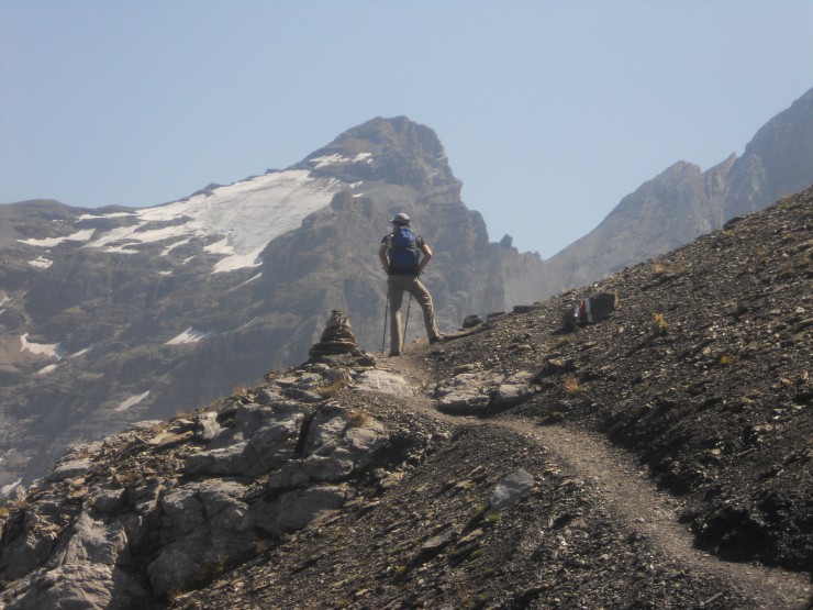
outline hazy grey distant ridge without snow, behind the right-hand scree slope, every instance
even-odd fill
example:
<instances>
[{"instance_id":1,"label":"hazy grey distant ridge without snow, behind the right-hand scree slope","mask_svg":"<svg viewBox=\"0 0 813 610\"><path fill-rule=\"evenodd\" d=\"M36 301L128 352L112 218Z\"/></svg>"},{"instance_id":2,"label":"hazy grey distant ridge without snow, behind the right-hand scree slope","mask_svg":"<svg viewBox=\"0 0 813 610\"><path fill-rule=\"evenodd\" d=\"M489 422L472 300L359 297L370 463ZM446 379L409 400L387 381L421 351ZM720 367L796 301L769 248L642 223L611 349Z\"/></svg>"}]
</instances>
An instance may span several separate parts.
<instances>
[{"instance_id":1,"label":"hazy grey distant ridge without snow, behind the right-hand scree slope","mask_svg":"<svg viewBox=\"0 0 813 610\"><path fill-rule=\"evenodd\" d=\"M594 281L669 252L813 184L813 89L745 147L701 171L678 162L628 195L590 233L545 260L542 293Z\"/></svg>"}]
</instances>

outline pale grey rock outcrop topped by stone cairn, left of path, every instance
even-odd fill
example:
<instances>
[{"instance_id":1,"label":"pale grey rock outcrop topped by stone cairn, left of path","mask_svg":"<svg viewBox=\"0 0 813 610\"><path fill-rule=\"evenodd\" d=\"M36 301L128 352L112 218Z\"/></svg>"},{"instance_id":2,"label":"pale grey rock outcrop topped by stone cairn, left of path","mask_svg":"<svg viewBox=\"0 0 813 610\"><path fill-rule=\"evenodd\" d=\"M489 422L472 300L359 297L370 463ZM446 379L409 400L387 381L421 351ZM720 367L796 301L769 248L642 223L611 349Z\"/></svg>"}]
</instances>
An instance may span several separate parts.
<instances>
[{"instance_id":1,"label":"pale grey rock outcrop topped by stone cairn, left of path","mask_svg":"<svg viewBox=\"0 0 813 610\"><path fill-rule=\"evenodd\" d=\"M323 339L348 330L334 312ZM3 523L0 579L13 585L0 601L134 608L341 509L419 448L331 399L371 370L349 352L349 365L308 364L214 410L73 446Z\"/></svg>"}]
</instances>

